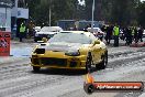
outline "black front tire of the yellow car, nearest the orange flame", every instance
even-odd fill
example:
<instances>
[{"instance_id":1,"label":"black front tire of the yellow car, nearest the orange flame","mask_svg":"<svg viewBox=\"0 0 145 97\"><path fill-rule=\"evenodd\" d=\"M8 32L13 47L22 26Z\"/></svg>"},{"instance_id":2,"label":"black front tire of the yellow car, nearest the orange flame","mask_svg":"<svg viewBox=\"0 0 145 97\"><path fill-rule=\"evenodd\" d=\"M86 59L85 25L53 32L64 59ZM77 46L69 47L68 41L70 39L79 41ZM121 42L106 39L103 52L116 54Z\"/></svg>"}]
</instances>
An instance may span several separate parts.
<instances>
[{"instance_id":1,"label":"black front tire of the yellow car, nearest the orange flame","mask_svg":"<svg viewBox=\"0 0 145 97\"><path fill-rule=\"evenodd\" d=\"M91 56L91 53L89 52L87 56L87 62L86 62L86 73L91 72L91 64L92 64L92 56Z\"/></svg>"}]
</instances>

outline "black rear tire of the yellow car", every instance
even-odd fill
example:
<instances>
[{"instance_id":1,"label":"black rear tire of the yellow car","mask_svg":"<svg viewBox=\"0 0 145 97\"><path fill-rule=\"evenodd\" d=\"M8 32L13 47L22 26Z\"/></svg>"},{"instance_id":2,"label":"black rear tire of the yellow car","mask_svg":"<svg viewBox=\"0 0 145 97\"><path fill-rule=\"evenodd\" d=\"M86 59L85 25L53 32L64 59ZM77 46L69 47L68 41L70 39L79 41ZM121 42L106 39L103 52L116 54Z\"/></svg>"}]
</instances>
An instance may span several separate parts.
<instances>
[{"instance_id":1,"label":"black rear tire of the yellow car","mask_svg":"<svg viewBox=\"0 0 145 97\"><path fill-rule=\"evenodd\" d=\"M104 55L102 55L102 62L99 64L96 64L96 68L104 69L107 65L108 65L108 51L105 52Z\"/></svg>"}]
</instances>

